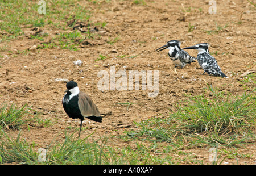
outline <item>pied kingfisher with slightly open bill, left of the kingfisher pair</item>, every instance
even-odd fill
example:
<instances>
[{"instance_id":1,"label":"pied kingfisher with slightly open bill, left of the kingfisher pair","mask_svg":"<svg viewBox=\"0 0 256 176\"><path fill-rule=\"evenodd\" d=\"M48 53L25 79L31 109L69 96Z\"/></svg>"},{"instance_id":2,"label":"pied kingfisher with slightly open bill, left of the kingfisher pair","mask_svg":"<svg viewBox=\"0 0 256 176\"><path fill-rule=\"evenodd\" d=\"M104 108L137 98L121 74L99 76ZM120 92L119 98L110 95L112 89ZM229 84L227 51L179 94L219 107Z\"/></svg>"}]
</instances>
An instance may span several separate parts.
<instances>
[{"instance_id":1,"label":"pied kingfisher with slightly open bill, left of the kingfisher pair","mask_svg":"<svg viewBox=\"0 0 256 176\"><path fill-rule=\"evenodd\" d=\"M195 62L195 57L190 56L186 51L180 48L181 42L179 40L170 40L166 45L156 49L156 52L162 51L163 49L169 49L168 56L174 62L175 67L180 66L184 68L186 64Z\"/></svg>"}]
</instances>

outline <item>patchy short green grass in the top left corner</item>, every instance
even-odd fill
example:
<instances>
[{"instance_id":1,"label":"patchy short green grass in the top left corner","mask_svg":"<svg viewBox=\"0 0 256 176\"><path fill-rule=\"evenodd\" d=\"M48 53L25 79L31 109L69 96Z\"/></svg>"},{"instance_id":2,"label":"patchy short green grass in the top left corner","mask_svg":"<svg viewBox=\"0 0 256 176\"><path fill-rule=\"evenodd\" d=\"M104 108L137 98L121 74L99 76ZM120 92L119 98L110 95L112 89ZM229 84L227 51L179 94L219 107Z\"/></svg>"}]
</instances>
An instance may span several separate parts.
<instances>
[{"instance_id":1,"label":"patchy short green grass in the top left corner","mask_svg":"<svg viewBox=\"0 0 256 176\"><path fill-rule=\"evenodd\" d=\"M90 11L85 9L85 7L80 6L75 1L49 1L46 3L46 14L38 16L38 3L28 3L24 1L9 1L9 2L0 2L1 3L1 12L0 12L0 31L3 31L4 35L1 35L1 41L8 41L14 39L17 36L24 35L24 26L33 27L46 27L49 28L60 28L61 30L66 31L67 26L73 27L78 20L86 21L90 18ZM70 4L73 4L70 6ZM9 9L11 6L12 10ZM71 11L76 11L75 15L71 15ZM72 24L67 25L69 21L73 21ZM93 39L93 33L90 31L90 26L99 26L104 28L106 22L98 22L93 24L89 23L88 29L79 32L60 32L59 34L52 37L50 42L42 43L42 46L39 48L61 48L61 49L71 49L77 50L77 45L79 45L85 39ZM30 35L31 39L38 39L44 41L44 37L47 35ZM67 39L67 40L65 40ZM115 39L114 41L115 42ZM110 41L112 43L112 41Z\"/></svg>"}]
</instances>

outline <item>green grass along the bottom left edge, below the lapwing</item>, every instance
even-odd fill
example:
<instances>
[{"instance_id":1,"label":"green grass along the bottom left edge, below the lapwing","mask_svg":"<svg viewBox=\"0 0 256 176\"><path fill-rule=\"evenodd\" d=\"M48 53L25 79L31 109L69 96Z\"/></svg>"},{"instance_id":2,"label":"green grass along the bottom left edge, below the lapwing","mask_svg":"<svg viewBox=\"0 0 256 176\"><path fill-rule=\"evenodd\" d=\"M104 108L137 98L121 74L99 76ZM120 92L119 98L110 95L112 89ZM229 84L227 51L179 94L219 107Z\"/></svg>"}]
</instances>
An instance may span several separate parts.
<instances>
[{"instance_id":1,"label":"green grass along the bottom left edge, below the lapwing","mask_svg":"<svg viewBox=\"0 0 256 176\"><path fill-rule=\"evenodd\" d=\"M39 148L35 143L28 143L21 138L19 132L16 139L4 131L0 143L0 163L17 162L18 164L118 164L120 158L115 157L105 143L107 139L89 142L84 139L73 139L74 133L65 133L63 141L52 140L47 148ZM91 134L92 135L92 134Z\"/></svg>"}]
</instances>

